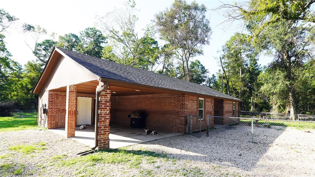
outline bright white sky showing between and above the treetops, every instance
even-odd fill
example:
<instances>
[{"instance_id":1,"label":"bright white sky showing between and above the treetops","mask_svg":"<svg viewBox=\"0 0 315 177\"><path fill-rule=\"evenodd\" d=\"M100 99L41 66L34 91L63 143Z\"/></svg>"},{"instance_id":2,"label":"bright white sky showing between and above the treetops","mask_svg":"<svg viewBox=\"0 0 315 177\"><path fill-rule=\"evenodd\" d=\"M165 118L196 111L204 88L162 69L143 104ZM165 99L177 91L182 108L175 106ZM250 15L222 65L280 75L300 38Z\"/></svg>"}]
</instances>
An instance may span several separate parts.
<instances>
[{"instance_id":1,"label":"bright white sky showing between and above the treetops","mask_svg":"<svg viewBox=\"0 0 315 177\"><path fill-rule=\"evenodd\" d=\"M145 28L147 24L151 23L154 15L160 11L169 8L173 0L135 0L136 8L139 9L137 16L139 18L136 29L141 33L141 29ZM187 0L190 3L190 0ZM212 35L210 44L204 46L203 55L194 57L193 60L200 60L200 62L208 69L209 74L215 74L220 69L218 57L222 45L230 39L235 32L242 32L240 21L234 22L232 26L226 28L228 24L221 24L226 18L220 13L211 10L223 3L232 3L232 1L196 1L199 4L204 4L207 9L207 18L210 21L212 28ZM76 33L84 30L87 27L95 26L97 19L96 15L103 16L107 12L113 11L114 8L122 8L123 0L115 1L101 1L101 0L28 0L28 1L2 1L1 9L9 12L11 15L19 18L14 25L12 25L5 32L5 42L7 49L12 54L12 59L24 65L29 60L35 60L32 54L31 47L34 42L30 36L21 32L21 25L24 23L39 25L45 28L49 34L54 32L58 38L60 35L66 33ZM43 36L40 40L50 38L50 36ZM56 39L57 39L56 38ZM159 41L159 40L158 40ZM161 41L159 41L161 45ZM268 57L261 57L258 61L261 66L267 65L271 61Z\"/></svg>"}]
</instances>

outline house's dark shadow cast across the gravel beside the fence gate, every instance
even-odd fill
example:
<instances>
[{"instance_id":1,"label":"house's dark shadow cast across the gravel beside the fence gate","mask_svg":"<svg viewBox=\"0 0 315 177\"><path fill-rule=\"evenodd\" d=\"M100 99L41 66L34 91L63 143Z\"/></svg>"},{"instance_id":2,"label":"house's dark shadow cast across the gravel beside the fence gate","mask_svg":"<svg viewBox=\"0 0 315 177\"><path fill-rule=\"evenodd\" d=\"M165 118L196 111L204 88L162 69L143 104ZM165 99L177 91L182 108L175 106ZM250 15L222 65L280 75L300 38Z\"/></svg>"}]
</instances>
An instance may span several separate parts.
<instances>
[{"instance_id":1,"label":"house's dark shadow cast across the gravel beside the fence gate","mask_svg":"<svg viewBox=\"0 0 315 177\"><path fill-rule=\"evenodd\" d=\"M260 158L268 151L286 128L255 128L254 143L251 142L251 127L232 126L224 131L214 130L209 137L178 135L143 144L155 144L178 149L166 152L169 156L184 160L202 161L243 170L255 167ZM187 151L183 153L182 151Z\"/></svg>"}]
</instances>

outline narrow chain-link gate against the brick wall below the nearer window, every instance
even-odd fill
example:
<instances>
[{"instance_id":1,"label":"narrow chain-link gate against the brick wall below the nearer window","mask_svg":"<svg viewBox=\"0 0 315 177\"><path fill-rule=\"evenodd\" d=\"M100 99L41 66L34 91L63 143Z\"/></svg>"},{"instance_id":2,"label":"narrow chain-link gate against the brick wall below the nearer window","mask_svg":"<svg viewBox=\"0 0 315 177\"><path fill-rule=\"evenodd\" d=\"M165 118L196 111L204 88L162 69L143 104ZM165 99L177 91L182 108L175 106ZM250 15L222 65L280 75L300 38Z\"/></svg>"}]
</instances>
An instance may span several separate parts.
<instances>
[{"instance_id":1,"label":"narrow chain-link gate against the brick wall below the nearer window","mask_svg":"<svg viewBox=\"0 0 315 177\"><path fill-rule=\"evenodd\" d=\"M206 137L209 136L209 115L207 117ZM201 137L202 120L198 115L186 114L186 134Z\"/></svg>"}]
</instances>

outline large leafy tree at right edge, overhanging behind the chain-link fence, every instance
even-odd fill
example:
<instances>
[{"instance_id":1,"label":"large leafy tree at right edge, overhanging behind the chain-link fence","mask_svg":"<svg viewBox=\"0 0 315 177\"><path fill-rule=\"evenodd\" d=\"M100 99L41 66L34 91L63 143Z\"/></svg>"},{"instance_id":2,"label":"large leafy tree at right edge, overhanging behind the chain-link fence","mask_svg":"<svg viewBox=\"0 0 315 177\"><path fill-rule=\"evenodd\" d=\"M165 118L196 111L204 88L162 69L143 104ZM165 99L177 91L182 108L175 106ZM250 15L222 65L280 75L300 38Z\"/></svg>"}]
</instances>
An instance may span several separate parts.
<instances>
[{"instance_id":1,"label":"large leafy tree at right edge, overhanging behind the chain-link fence","mask_svg":"<svg viewBox=\"0 0 315 177\"><path fill-rule=\"evenodd\" d=\"M301 109L300 103L303 95L308 93L302 92L299 78L305 72L305 62L314 60L315 30L314 24L310 23L315 22L313 3L308 0L251 0L221 6L229 9L227 21L243 20L252 49L274 58L261 75L261 82L251 84L255 90L261 91L258 93L260 98L270 101L274 111L296 114L306 110L305 106ZM249 78L255 81L255 77Z\"/></svg>"}]
</instances>

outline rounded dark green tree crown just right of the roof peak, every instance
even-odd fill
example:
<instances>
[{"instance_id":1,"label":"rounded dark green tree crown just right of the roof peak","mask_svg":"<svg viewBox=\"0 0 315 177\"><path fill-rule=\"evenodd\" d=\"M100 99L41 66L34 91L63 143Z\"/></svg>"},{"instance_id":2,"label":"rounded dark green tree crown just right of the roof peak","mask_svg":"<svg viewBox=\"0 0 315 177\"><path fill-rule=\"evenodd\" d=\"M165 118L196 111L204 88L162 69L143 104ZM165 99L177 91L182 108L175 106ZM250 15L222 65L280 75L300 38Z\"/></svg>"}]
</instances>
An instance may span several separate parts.
<instances>
[{"instance_id":1,"label":"rounded dark green tree crown just right of the roof peak","mask_svg":"<svg viewBox=\"0 0 315 177\"><path fill-rule=\"evenodd\" d=\"M86 28L80 32L80 43L77 50L83 54L101 58L103 45L106 43L106 37L95 27Z\"/></svg>"}]
</instances>

